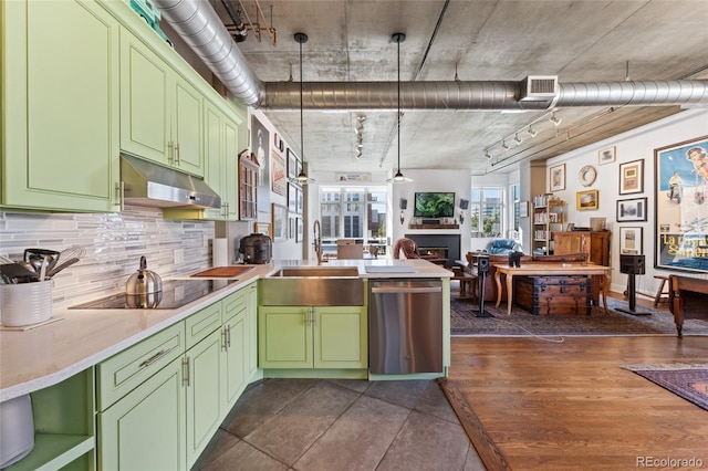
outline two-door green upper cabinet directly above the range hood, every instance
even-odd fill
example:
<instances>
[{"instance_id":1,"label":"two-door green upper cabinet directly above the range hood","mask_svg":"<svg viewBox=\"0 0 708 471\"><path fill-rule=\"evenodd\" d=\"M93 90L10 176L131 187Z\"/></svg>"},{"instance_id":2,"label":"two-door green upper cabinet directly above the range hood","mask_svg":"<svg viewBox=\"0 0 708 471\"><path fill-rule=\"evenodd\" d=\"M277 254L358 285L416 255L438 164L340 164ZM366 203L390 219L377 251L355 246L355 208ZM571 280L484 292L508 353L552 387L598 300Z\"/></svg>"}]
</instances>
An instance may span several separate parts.
<instances>
[{"instance_id":1,"label":"two-door green upper cabinet directly above the range hood","mask_svg":"<svg viewBox=\"0 0 708 471\"><path fill-rule=\"evenodd\" d=\"M121 31L121 149L204 177L202 95L163 57Z\"/></svg>"}]
</instances>

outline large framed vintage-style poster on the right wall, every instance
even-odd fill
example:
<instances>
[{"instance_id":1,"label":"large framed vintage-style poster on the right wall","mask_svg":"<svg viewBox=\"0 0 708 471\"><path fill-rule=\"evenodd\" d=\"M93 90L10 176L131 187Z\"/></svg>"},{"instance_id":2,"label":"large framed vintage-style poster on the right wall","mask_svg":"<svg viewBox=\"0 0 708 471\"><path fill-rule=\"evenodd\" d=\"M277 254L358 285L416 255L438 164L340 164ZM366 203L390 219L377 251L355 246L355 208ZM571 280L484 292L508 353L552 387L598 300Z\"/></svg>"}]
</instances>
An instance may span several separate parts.
<instances>
[{"instance_id":1,"label":"large framed vintage-style poster on the right wall","mask_svg":"<svg viewBox=\"0 0 708 471\"><path fill-rule=\"evenodd\" d=\"M708 273L708 136L654 150L655 268Z\"/></svg>"}]
</instances>

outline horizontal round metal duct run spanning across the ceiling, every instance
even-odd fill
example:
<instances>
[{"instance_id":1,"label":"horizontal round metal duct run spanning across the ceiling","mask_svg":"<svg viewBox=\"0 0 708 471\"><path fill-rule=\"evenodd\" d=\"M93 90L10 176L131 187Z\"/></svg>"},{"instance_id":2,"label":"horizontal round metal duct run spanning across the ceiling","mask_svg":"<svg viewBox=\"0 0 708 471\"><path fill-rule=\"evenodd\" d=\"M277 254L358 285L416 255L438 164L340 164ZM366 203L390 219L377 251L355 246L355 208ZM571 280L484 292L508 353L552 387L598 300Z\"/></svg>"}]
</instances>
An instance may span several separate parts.
<instances>
[{"instance_id":1,"label":"horizontal round metal duct run spanning across the ceiling","mask_svg":"<svg viewBox=\"0 0 708 471\"><path fill-rule=\"evenodd\" d=\"M266 84L269 109L300 106L298 84ZM396 109L395 82L305 82L306 109ZM555 101L520 101L520 82L408 82L400 84L406 109L548 109L549 107L679 105L708 103L708 81L559 84Z\"/></svg>"}]
</instances>

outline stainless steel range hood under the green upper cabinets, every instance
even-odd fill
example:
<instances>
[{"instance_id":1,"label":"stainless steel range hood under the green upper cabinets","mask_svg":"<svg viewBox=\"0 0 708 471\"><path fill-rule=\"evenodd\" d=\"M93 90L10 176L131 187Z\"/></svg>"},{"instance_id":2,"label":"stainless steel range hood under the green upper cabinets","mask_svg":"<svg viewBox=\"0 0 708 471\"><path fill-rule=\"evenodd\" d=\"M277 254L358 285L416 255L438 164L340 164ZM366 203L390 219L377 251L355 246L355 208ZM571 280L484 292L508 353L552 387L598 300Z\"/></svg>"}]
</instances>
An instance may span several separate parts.
<instances>
[{"instance_id":1,"label":"stainless steel range hood under the green upper cabinets","mask_svg":"<svg viewBox=\"0 0 708 471\"><path fill-rule=\"evenodd\" d=\"M204 180L121 154L123 201L153 208L220 208L221 197Z\"/></svg>"}]
</instances>

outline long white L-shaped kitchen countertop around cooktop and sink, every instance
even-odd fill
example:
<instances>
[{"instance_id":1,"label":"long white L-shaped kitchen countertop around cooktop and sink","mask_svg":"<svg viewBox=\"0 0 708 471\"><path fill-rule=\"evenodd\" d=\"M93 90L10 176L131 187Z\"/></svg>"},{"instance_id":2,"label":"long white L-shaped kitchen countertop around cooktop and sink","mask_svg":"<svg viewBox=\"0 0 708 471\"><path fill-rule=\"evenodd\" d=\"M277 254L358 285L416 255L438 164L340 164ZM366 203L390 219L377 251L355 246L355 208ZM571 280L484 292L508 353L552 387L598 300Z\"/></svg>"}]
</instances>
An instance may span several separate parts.
<instances>
[{"instance_id":1,"label":"long white L-shaped kitchen countertop around cooktop and sink","mask_svg":"<svg viewBox=\"0 0 708 471\"><path fill-rule=\"evenodd\" d=\"M0 402L55 385L283 266L316 264L280 260L254 265L238 282L176 310L69 310L81 301L55 305L52 320L60 321L27 331L0 331ZM367 273L367 265L406 266L416 272ZM451 271L425 260L331 260L322 266L357 266L360 276L367 279L452 276ZM168 279L189 279L189 273Z\"/></svg>"}]
</instances>

